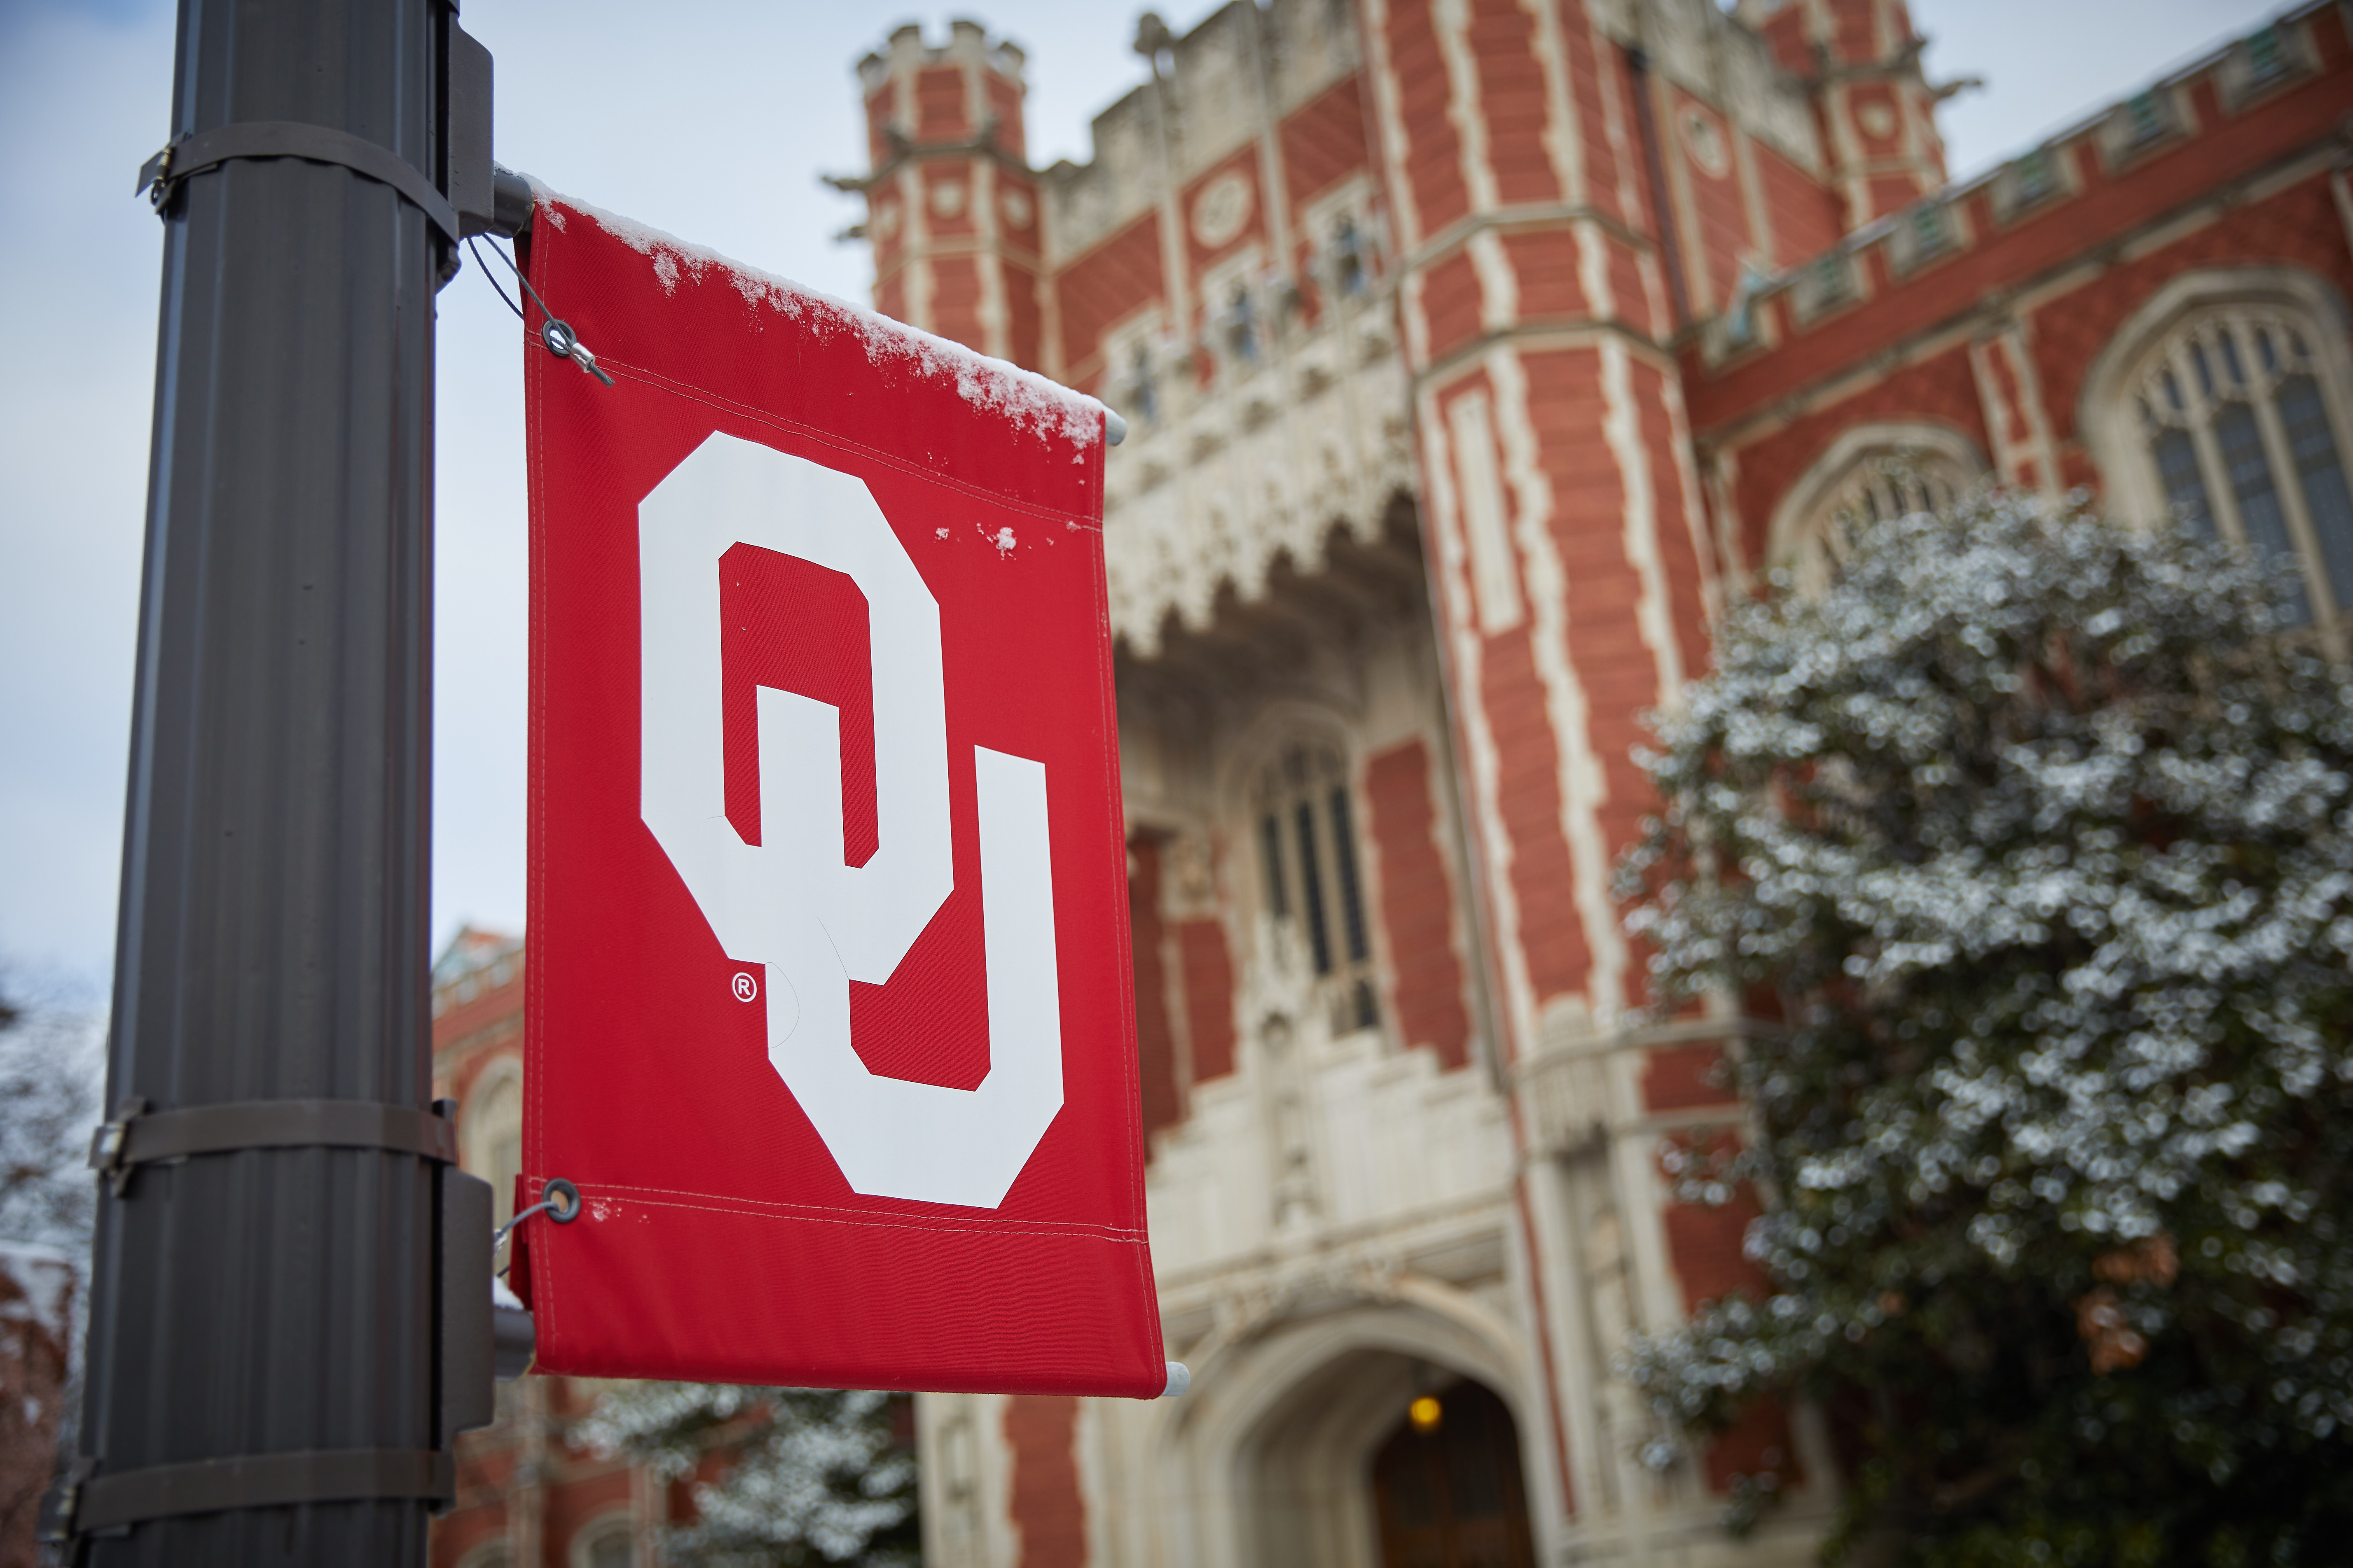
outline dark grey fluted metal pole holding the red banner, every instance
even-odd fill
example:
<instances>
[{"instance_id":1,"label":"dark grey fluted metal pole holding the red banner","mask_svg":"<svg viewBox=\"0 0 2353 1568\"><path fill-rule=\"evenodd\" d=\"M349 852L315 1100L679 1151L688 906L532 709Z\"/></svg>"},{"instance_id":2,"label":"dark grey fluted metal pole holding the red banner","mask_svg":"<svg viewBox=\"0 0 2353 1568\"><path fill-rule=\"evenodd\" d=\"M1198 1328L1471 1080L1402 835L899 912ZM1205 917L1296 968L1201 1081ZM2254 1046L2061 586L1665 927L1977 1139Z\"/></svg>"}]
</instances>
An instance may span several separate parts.
<instances>
[{"instance_id":1,"label":"dark grey fluted metal pole holding the red banner","mask_svg":"<svg viewBox=\"0 0 2353 1568\"><path fill-rule=\"evenodd\" d=\"M108 1566L414 1566L489 1415L426 1009L433 296L487 228L489 56L438 0L181 0L172 129L56 1523Z\"/></svg>"}]
</instances>

